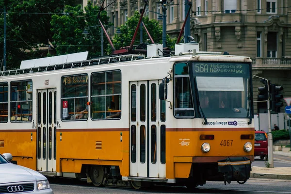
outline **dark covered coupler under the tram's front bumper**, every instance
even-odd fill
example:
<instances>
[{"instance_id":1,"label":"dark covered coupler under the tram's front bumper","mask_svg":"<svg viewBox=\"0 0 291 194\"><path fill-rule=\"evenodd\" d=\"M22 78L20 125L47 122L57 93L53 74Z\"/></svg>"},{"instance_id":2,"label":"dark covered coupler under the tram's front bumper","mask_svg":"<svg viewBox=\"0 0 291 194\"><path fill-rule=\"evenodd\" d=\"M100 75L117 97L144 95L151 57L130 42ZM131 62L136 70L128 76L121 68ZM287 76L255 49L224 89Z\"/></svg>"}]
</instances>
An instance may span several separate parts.
<instances>
[{"instance_id":1,"label":"dark covered coupler under the tram's front bumper","mask_svg":"<svg viewBox=\"0 0 291 194\"><path fill-rule=\"evenodd\" d=\"M251 175L251 161L245 157L230 158L218 162L218 172L223 173L224 183L230 184L231 181L237 181L243 184Z\"/></svg>"}]
</instances>

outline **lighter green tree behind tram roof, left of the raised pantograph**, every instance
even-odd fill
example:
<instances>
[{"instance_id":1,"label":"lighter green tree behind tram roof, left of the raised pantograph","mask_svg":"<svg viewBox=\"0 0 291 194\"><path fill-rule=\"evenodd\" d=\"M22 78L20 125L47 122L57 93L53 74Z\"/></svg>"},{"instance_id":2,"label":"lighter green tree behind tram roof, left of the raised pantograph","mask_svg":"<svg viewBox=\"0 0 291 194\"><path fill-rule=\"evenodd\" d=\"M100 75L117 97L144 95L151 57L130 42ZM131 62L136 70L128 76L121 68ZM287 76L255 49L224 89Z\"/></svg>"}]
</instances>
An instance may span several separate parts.
<instances>
[{"instance_id":1,"label":"lighter green tree behind tram roof, left of the raised pantograph","mask_svg":"<svg viewBox=\"0 0 291 194\"><path fill-rule=\"evenodd\" d=\"M89 2L83 13L81 5L67 5L65 13L63 16L52 16L50 22L57 55L89 51L89 56L100 56L101 27L97 18L99 7L93 7ZM100 13L99 18L104 26L110 25L105 11ZM85 29L89 33L86 37L82 34ZM104 46L107 46L107 40L104 40Z\"/></svg>"}]
</instances>

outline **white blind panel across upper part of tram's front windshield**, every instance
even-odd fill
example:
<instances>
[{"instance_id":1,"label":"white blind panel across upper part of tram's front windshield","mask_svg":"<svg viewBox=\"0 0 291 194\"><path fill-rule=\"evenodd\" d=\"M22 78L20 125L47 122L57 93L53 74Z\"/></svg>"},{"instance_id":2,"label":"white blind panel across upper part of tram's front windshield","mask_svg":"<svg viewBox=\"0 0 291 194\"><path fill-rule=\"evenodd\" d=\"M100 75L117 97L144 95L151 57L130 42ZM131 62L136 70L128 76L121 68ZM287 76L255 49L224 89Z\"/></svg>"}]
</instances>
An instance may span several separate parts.
<instances>
[{"instance_id":1,"label":"white blind panel across upper part of tram's front windshield","mask_svg":"<svg viewBox=\"0 0 291 194\"><path fill-rule=\"evenodd\" d=\"M196 77L199 91L244 91L243 78Z\"/></svg>"}]
</instances>

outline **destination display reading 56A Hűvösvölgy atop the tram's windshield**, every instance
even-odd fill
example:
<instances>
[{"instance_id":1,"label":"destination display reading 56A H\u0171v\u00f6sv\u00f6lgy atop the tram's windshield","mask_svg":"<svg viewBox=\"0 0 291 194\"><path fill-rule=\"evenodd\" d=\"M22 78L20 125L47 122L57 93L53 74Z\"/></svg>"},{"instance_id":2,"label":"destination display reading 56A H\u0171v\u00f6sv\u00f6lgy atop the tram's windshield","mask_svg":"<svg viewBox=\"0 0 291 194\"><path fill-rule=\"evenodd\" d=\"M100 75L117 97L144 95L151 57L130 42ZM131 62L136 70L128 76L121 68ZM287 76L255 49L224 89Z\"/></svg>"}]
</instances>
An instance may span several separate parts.
<instances>
[{"instance_id":1,"label":"destination display reading 56A H\u0171v\u00f6sv\u00f6lgy atop the tram's windshield","mask_svg":"<svg viewBox=\"0 0 291 194\"><path fill-rule=\"evenodd\" d=\"M194 73L245 74L248 64L193 63Z\"/></svg>"}]
</instances>

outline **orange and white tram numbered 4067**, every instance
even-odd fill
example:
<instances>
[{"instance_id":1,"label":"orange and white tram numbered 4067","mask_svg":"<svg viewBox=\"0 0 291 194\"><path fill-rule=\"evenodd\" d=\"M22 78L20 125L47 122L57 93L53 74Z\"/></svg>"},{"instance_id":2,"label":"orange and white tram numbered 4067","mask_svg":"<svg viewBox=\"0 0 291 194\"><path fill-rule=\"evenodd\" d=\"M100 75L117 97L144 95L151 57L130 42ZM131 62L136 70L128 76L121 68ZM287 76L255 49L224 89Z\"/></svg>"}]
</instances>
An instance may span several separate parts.
<instances>
[{"instance_id":1,"label":"orange and white tram numbered 4067","mask_svg":"<svg viewBox=\"0 0 291 194\"><path fill-rule=\"evenodd\" d=\"M249 57L132 54L0 75L0 153L19 165L134 188L250 176Z\"/></svg>"}]
</instances>

